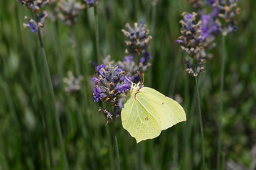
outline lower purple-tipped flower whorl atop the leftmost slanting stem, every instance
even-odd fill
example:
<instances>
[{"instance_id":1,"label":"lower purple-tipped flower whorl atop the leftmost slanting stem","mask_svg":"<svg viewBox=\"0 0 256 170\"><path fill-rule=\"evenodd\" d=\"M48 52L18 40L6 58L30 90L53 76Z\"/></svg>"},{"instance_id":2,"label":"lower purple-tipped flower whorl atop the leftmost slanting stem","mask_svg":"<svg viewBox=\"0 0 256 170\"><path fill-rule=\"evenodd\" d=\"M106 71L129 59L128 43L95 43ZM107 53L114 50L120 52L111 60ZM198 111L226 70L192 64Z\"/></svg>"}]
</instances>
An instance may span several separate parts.
<instances>
[{"instance_id":1,"label":"lower purple-tipped flower whorl atop the leftmost slanting stem","mask_svg":"<svg viewBox=\"0 0 256 170\"><path fill-rule=\"evenodd\" d=\"M48 14L46 11L39 13L36 16L36 20L33 20L32 18L28 18L27 16L25 16L25 19L26 19L26 21L28 21L28 23L23 23L23 27L24 28L28 27L31 29L31 31L33 33L36 33L39 28L43 28L44 23L46 22L47 16L48 16Z\"/></svg>"}]
</instances>

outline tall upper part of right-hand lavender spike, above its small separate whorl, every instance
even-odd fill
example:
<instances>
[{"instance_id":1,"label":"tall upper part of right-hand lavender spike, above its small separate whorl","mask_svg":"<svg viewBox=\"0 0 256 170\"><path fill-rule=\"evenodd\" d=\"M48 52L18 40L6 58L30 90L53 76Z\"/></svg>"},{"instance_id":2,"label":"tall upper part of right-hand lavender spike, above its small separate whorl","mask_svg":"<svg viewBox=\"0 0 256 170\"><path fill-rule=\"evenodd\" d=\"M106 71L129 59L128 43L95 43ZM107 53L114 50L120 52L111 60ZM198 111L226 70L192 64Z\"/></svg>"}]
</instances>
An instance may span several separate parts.
<instances>
[{"instance_id":1,"label":"tall upper part of right-hand lavender spike, above its small separate whorl","mask_svg":"<svg viewBox=\"0 0 256 170\"><path fill-rule=\"evenodd\" d=\"M181 49L184 50L189 57L195 57L201 50L203 50L202 43L204 38L201 35L202 22L196 23L197 13L182 13L183 20L180 21L181 36L178 37L178 42Z\"/></svg>"}]
</instances>

